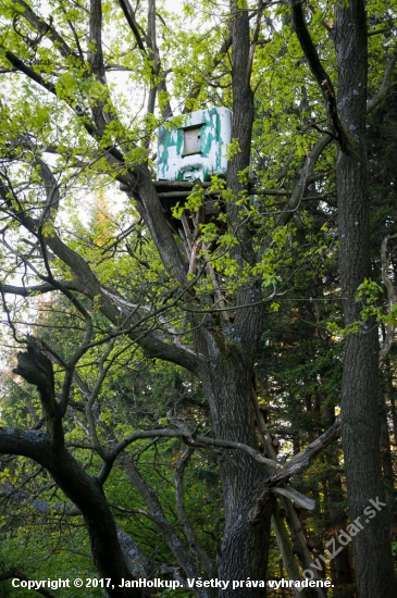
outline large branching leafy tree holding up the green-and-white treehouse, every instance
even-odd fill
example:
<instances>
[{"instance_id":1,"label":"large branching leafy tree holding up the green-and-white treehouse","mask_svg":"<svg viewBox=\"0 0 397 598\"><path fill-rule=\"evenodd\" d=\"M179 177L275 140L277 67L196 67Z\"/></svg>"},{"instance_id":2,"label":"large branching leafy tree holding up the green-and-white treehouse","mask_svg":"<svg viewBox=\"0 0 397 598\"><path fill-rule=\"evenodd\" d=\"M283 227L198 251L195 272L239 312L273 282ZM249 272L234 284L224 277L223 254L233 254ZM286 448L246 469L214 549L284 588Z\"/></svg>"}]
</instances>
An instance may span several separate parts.
<instances>
[{"instance_id":1,"label":"large branching leafy tree holding up the green-and-white treehouse","mask_svg":"<svg viewBox=\"0 0 397 598\"><path fill-rule=\"evenodd\" d=\"M365 111L373 110L389 90L396 53L388 41L377 43L374 50L382 60L375 66L371 62L370 71L365 11L356 0L336 7L333 25L328 24L326 7L310 8L312 36L299 2L280 8L232 0L227 11L203 2L200 22L186 5L186 14L197 25L188 36L177 29L176 17L157 8L153 0L148 2L147 15L127 0L117 5L91 0L89 7L73 8L54 3L51 17L24 0L10 0L2 10L4 88L14 85L20 96L15 102L4 97L0 107L3 306L15 341L22 338L16 311L8 304L9 295L63 295L79 332L73 346L60 351L42 339L26 340L27 348L18 352L14 372L36 386L46 432L1 429L0 449L28 457L49 471L83 513L100 576L119 581L129 578L132 566L103 490L116 459L128 471L131 483L145 499L185 576L197 577L202 571L211 575L214 569L194 530L185 520L185 537L195 545L198 558L177 537L158 497L123 451L138 439L161 437L184 438L194 448L218 447L223 450L219 468L225 514L218 577L263 581L275 495L293 471L306 466L308 452L298 453L285 465L276 461L255 391L255 360L264 320L276 309L274 300L287 290L282 274L293 260L290 248L298 237L294 215L300 213L303 200L321 200L323 194L319 191L326 194L324 188L331 185L315 186L317 180L326 178L333 163L331 144L337 147L345 324L353 331L346 341L342 386L350 520L362 514L370 498L383 500L376 418L377 333L372 321L357 328L362 306L356 301L356 292L371 276L369 209L367 199L363 201ZM376 7L371 10L375 12ZM218 20L214 26L208 21L208 11ZM117 36L111 29L116 21ZM335 55L330 40L321 34L322 24L333 38ZM300 47L295 37L287 41L291 25ZM182 64L177 63L179 47L186 49ZM195 60L191 73L184 64L189 50ZM281 113L280 97L266 98L260 85L264 80L270 88L274 74L275 88L285 89L278 75L291 70L296 52L300 57L295 64L299 80L288 82ZM330 62L332 75L325 72L320 57ZM146 114L133 124L108 80L113 70L133 73L139 90L147 92ZM371 82L367 84L369 71ZM312 77L317 90L310 89ZM333 77L337 77L338 100ZM367 88L372 94L376 87L379 92L365 105ZM171 114L169 88L173 102L184 104L185 112L214 99L233 111L226 185L215 178L207 191L195 187L183 210L175 207L173 227L153 185L150 154L158 125ZM324 120L324 104L325 130L317 124ZM256 110L265 119L255 122ZM291 126L298 124L302 134L291 135ZM253 127L260 135L252 149ZM321 137L312 137L313 132ZM257 188L252 188L251 160L258 166ZM126 214L114 240L110 241L108 231L102 232L102 238L74 238L62 229L60 219L63 204L77 192L75 180L88 188L99 180L108 185L119 182L138 216L134 220ZM277 180L285 190L275 188ZM306 194L310 185L314 192L311 199ZM251 201L252 192L263 200ZM272 199L277 195L286 198L281 211ZM206 220L208 199L215 201L211 221ZM184 234L177 237L175 228L182 226ZM14 259L17 267L24 269L17 285L10 279ZM110 259L114 270L108 265ZM301 257L301 264L305 259L307 256ZM101 385L131 342L139 348L136 350L142 359L173 363L200 379L213 438L200 434L200 422L195 429L136 429L122 439L108 431L106 437L99 437L101 424L95 408ZM87 383L78 369L87 371L84 367L92 361L98 381ZM53 363L60 369L59 398ZM65 440L64 421L74 387L85 396L91 448L102 462L95 476L84 472ZM309 454L314 456L336 435L337 423L314 443ZM358 437L362 446L356 441ZM288 494L288 489L284 491ZM303 498L300 500L305 503ZM179 516L184 520L183 510ZM381 511L353 539L353 547L359 596L394 596L385 512ZM210 595L206 588L196 591L202 597ZM225 597L232 594L241 598L263 596L265 587L240 587L237 593L228 587L222 591ZM109 595L141 593L116 584Z\"/></svg>"}]
</instances>

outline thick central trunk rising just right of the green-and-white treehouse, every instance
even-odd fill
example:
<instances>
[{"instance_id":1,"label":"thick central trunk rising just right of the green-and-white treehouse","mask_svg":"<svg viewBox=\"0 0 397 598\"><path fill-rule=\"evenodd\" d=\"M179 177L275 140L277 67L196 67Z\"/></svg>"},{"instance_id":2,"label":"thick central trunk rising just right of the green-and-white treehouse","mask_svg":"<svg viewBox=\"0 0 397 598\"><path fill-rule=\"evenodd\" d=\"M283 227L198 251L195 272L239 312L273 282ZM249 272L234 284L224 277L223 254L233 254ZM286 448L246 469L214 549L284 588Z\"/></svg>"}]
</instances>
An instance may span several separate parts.
<instances>
[{"instance_id":1,"label":"thick central trunk rising just right of the green-and-white treehouse","mask_svg":"<svg viewBox=\"0 0 397 598\"><path fill-rule=\"evenodd\" d=\"M241 10L243 9L243 10ZM248 10L245 3L231 0L231 35L233 68L233 122L232 137L238 140L239 151L227 166L227 188L237 198L246 190L239 173L250 163L250 145L253 123L253 92L249 82L250 35ZM250 233L243 224L240 205L227 203L229 231L238 245L231 249L231 258L243 269L252 258ZM237 294L237 311L228 331L206 335L200 333L199 344L208 356L201 379L210 403L215 435L252 447L258 447L255 411L251 400L253 358L262 329L262 308L252 306L243 310L238 306L258 303L261 299L260 282L248 285ZM224 451L221 462L221 479L224 494L225 526L222 544L219 578L247 582L266 580L270 525L273 500L268 499L259 511L258 499L264 489L266 472L247 454L234 450ZM256 510L252 519L251 510ZM262 598L263 587L228 588L222 598Z\"/></svg>"}]
</instances>

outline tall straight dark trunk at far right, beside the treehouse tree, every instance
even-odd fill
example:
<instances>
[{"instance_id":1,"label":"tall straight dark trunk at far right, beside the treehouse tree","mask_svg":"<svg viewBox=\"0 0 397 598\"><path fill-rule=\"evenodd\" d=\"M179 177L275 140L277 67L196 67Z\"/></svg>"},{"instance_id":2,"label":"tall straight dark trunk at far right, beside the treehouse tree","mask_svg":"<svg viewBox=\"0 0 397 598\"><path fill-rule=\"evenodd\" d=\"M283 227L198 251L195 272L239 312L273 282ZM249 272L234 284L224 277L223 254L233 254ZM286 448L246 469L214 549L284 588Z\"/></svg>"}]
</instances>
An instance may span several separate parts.
<instances>
[{"instance_id":1,"label":"tall straight dark trunk at far right, beside the treehouse tree","mask_svg":"<svg viewBox=\"0 0 397 598\"><path fill-rule=\"evenodd\" d=\"M371 276L367 197L367 21L363 0L340 3L336 11L335 49L339 68L338 112L346 133L337 157L339 275L346 325L360 320L357 287ZM370 500L385 503L377 414L377 326L367 322L346 339L342 388L342 441L349 518L362 516ZM359 598L397 595L386 508L360 520L352 538Z\"/></svg>"}]
</instances>

